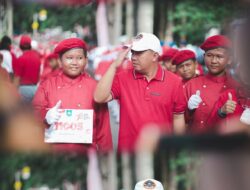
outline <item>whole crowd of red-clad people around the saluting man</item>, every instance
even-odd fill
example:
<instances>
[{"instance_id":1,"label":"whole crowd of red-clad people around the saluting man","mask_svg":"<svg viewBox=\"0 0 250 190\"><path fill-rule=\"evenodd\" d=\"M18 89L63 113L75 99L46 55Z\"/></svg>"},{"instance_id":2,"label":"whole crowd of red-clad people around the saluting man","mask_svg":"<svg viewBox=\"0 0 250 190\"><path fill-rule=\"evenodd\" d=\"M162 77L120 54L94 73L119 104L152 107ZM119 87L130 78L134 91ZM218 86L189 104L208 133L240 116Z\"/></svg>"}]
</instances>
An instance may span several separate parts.
<instances>
[{"instance_id":1,"label":"whole crowd of red-clad people around the saluting man","mask_svg":"<svg viewBox=\"0 0 250 190\"><path fill-rule=\"evenodd\" d=\"M120 126L119 152L135 151L147 125L162 135L223 133L250 125L245 65L231 75L233 45L224 35L200 45L204 63L191 49L162 46L151 33L98 53L80 38L63 39L44 55L31 42L20 36L16 54L11 39L1 39L1 84L34 109L45 142L56 152L113 150L109 110Z\"/></svg>"}]
</instances>

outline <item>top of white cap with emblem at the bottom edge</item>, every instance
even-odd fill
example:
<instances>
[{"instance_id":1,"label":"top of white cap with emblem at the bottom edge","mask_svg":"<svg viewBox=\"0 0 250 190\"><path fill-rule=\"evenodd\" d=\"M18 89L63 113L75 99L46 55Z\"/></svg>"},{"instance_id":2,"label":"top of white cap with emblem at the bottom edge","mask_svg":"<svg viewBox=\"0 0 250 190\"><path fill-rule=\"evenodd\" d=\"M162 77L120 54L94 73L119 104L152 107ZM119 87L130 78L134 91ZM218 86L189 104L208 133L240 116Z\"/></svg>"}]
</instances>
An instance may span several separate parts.
<instances>
[{"instance_id":1,"label":"top of white cap with emblem at the bottom edge","mask_svg":"<svg viewBox=\"0 0 250 190\"><path fill-rule=\"evenodd\" d=\"M145 179L135 185L134 190L164 190L161 182L155 179Z\"/></svg>"}]
</instances>

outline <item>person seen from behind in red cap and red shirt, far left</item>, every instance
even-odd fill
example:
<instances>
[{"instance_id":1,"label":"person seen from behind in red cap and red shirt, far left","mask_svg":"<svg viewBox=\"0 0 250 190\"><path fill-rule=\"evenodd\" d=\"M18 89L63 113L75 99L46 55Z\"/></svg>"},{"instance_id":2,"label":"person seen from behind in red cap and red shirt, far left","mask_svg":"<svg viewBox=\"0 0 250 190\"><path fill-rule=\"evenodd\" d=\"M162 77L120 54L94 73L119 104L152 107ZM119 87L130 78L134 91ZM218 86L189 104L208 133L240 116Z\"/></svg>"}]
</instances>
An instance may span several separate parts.
<instances>
[{"instance_id":1,"label":"person seen from behind in red cap and red shirt, far left","mask_svg":"<svg viewBox=\"0 0 250 190\"><path fill-rule=\"evenodd\" d=\"M31 38L21 36L20 48L23 54L17 59L14 84L25 102L31 102L39 81L41 59L35 50L31 49Z\"/></svg>"}]
</instances>

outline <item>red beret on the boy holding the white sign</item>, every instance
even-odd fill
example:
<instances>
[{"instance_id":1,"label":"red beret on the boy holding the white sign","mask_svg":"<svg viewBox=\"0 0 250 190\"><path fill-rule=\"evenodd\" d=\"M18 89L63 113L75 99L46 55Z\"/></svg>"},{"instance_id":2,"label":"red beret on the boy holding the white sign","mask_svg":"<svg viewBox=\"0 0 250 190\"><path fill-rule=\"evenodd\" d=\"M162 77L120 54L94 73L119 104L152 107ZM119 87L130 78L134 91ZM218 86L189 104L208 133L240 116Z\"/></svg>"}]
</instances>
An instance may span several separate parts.
<instances>
[{"instance_id":1,"label":"red beret on the boy holding the white sign","mask_svg":"<svg viewBox=\"0 0 250 190\"><path fill-rule=\"evenodd\" d=\"M82 48L87 50L87 44L80 38L68 38L62 40L55 48L54 53L63 54L66 51L74 48Z\"/></svg>"}]
</instances>

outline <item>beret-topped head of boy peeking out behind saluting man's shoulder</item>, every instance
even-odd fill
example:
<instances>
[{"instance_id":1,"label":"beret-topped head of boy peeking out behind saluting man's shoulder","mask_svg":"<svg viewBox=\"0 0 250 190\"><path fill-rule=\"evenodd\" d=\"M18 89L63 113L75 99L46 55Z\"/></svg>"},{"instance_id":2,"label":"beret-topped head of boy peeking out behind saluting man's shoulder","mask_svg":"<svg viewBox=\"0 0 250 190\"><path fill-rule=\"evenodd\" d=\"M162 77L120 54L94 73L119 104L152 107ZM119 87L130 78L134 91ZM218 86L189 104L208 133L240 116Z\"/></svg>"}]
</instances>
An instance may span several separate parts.
<instances>
[{"instance_id":1,"label":"beret-topped head of boy peeking out behind saluting man's shoulder","mask_svg":"<svg viewBox=\"0 0 250 190\"><path fill-rule=\"evenodd\" d=\"M173 57L173 64L176 65L176 74L182 78L183 84L197 76L198 63L193 51L180 50Z\"/></svg>"}]
</instances>

